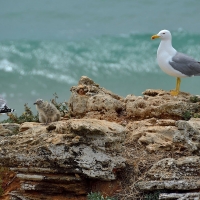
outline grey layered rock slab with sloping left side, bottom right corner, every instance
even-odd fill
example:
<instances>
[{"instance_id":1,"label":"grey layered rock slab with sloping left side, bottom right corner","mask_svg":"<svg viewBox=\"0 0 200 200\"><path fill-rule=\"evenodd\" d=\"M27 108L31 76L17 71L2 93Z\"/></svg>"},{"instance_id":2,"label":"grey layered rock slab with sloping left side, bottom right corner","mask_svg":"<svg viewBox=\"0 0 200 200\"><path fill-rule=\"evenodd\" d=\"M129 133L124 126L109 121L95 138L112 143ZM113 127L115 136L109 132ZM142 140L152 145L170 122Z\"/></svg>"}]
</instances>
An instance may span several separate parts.
<instances>
[{"instance_id":1,"label":"grey layered rock slab with sloping left side, bottom right corner","mask_svg":"<svg viewBox=\"0 0 200 200\"><path fill-rule=\"evenodd\" d=\"M194 190L200 189L200 157L188 156L177 160L166 158L158 161L138 182L140 190Z\"/></svg>"}]
</instances>

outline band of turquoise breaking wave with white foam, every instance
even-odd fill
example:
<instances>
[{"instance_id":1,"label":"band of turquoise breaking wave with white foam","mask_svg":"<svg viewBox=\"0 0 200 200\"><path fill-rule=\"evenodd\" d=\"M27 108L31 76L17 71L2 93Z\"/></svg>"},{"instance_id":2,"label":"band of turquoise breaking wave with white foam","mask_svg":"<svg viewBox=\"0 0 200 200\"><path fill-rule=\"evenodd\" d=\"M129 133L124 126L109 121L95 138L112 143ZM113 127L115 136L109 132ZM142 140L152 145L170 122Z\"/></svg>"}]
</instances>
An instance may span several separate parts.
<instances>
[{"instance_id":1,"label":"band of turquoise breaking wave with white foam","mask_svg":"<svg viewBox=\"0 0 200 200\"><path fill-rule=\"evenodd\" d=\"M198 58L199 36L181 34L175 34L174 44L178 44L179 51ZM80 41L5 41L0 43L0 70L44 76L69 84L83 74L98 77L160 73L156 64L158 45L148 34Z\"/></svg>"}]
</instances>

